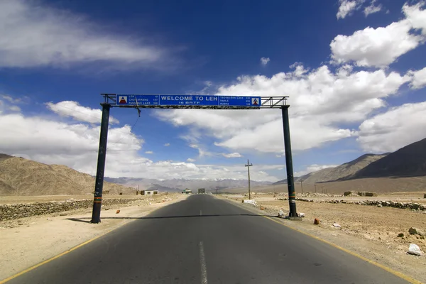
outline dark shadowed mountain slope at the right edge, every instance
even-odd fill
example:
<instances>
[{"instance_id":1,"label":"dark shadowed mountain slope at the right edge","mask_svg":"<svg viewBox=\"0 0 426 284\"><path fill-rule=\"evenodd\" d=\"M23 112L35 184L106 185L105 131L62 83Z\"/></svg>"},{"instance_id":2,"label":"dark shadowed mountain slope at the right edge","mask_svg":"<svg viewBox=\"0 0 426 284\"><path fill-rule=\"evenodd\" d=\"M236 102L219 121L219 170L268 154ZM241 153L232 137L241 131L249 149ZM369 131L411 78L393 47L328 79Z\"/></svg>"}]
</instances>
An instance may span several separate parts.
<instances>
[{"instance_id":1,"label":"dark shadowed mountain slope at the right edge","mask_svg":"<svg viewBox=\"0 0 426 284\"><path fill-rule=\"evenodd\" d=\"M345 179L426 175L426 138L386 155Z\"/></svg>"}]
</instances>

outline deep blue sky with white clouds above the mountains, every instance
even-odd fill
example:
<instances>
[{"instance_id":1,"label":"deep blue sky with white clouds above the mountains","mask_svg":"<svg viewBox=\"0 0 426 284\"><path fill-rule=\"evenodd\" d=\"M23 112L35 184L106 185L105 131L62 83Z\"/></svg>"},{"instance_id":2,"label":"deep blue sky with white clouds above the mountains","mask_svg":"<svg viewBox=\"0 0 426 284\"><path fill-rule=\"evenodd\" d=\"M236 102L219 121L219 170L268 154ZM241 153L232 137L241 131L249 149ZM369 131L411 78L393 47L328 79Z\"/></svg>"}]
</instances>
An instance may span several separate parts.
<instances>
[{"instance_id":1,"label":"deep blue sky with white clouds above the mountains","mask_svg":"<svg viewBox=\"0 0 426 284\"><path fill-rule=\"evenodd\" d=\"M101 93L288 96L295 176L426 137L426 4L0 1L0 153L95 175ZM280 109L112 108L111 178L286 178Z\"/></svg>"}]
</instances>

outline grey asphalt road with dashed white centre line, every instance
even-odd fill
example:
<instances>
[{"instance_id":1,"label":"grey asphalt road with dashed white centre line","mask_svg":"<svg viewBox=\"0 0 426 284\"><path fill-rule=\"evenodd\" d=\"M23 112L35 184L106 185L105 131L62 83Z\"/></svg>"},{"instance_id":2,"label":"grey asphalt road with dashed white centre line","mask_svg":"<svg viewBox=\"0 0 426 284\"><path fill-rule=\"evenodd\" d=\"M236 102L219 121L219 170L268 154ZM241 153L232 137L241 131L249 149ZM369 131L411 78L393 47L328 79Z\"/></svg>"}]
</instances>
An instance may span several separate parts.
<instances>
[{"instance_id":1,"label":"grey asphalt road with dashed white centre line","mask_svg":"<svg viewBox=\"0 0 426 284\"><path fill-rule=\"evenodd\" d=\"M234 204L194 195L8 283L407 282Z\"/></svg>"}]
</instances>

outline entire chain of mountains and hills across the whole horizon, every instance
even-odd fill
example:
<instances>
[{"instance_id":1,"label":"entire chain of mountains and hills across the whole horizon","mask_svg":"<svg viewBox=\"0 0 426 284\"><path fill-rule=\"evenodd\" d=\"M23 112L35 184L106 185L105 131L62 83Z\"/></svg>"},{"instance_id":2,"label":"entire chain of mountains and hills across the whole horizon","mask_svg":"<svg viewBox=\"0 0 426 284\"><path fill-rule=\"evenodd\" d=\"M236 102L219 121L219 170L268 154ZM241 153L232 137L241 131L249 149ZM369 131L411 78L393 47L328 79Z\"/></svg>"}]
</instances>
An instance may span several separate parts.
<instances>
[{"instance_id":1,"label":"entire chain of mountains and hills across the whole horizon","mask_svg":"<svg viewBox=\"0 0 426 284\"><path fill-rule=\"evenodd\" d=\"M402 178L426 175L426 138L400 148L393 153L365 154L334 168L308 173L295 182L304 184L354 180L361 178ZM235 189L248 186L248 180L233 179L170 179L104 178L104 191L110 194L134 194L136 189L157 189L179 192L189 188L207 191ZM279 182L251 180L252 187L280 185ZM94 177L77 172L65 165L46 165L11 155L0 154L0 195L89 195L94 190Z\"/></svg>"}]
</instances>

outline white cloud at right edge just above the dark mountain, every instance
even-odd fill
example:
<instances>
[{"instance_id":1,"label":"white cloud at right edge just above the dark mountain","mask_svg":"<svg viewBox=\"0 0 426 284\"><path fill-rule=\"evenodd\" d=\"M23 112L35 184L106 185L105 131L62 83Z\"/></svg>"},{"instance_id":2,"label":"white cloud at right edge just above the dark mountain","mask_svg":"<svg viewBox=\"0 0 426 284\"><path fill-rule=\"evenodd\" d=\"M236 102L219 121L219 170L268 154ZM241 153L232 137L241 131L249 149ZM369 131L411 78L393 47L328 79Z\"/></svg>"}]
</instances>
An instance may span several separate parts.
<instances>
[{"instance_id":1,"label":"white cloud at right edge just above the dark mountain","mask_svg":"<svg viewBox=\"0 0 426 284\"><path fill-rule=\"evenodd\" d=\"M373 116L359 126L364 151L384 153L398 150L426 137L426 102L403 104Z\"/></svg>"}]
</instances>

